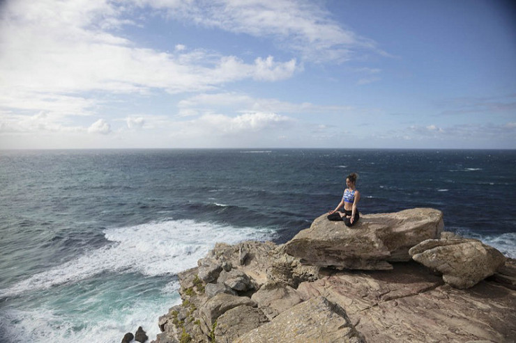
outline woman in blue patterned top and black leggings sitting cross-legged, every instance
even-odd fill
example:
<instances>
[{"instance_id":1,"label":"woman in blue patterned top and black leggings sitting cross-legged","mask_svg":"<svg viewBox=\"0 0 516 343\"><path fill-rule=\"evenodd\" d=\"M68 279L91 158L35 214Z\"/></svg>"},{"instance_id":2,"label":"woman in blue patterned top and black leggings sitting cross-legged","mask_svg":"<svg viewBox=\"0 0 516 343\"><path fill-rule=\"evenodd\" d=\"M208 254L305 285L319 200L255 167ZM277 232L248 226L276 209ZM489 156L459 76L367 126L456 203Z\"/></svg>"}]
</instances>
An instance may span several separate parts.
<instances>
[{"instance_id":1,"label":"woman in blue patterned top and black leggings sitting cross-legged","mask_svg":"<svg viewBox=\"0 0 516 343\"><path fill-rule=\"evenodd\" d=\"M360 192L356 189L356 179L358 175L351 173L346 177L347 189L344 189L344 195L340 200L339 205L333 211L328 212L328 219L330 221L344 221L346 226L351 227L358 221L360 214L356 205L360 201ZM344 205L344 212L339 209Z\"/></svg>"}]
</instances>

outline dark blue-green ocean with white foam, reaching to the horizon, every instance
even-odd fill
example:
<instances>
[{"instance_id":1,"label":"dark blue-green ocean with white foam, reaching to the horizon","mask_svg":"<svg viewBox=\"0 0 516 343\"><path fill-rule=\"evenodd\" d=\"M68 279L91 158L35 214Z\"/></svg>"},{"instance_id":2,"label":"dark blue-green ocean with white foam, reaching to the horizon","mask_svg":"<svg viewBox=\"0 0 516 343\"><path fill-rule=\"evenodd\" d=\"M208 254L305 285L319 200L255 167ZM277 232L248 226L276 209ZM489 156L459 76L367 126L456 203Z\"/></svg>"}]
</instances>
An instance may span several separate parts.
<instances>
[{"instance_id":1,"label":"dark blue-green ocean with white foam, reaching to the horizon","mask_svg":"<svg viewBox=\"0 0 516 343\"><path fill-rule=\"evenodd\" d=\"M340 202L433 207L516 257L516 150L0 151L2 342L120 342L215 242L278 244Z\"/></svg>"}]
</instances>

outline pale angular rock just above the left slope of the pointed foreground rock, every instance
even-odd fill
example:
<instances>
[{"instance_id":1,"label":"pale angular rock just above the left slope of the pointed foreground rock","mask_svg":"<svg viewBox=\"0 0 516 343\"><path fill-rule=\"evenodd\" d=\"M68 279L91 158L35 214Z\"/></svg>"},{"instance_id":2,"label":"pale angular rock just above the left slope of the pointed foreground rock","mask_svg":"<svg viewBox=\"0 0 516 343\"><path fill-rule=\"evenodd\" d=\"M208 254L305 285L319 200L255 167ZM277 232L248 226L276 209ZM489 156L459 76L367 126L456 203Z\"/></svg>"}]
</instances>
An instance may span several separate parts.
<instances>
[{"instance_id":1,"label":"pale angular rock just above the left slope of the pointed foreground rock","mask_svg":"<svg viewBox=\"0 0 516 343\"><path fill-rule=\"evenodd\" d=\"M269 320L303 301L294 288L284 285L264 285L251 299Z\"/></svg>"}]
</instances>

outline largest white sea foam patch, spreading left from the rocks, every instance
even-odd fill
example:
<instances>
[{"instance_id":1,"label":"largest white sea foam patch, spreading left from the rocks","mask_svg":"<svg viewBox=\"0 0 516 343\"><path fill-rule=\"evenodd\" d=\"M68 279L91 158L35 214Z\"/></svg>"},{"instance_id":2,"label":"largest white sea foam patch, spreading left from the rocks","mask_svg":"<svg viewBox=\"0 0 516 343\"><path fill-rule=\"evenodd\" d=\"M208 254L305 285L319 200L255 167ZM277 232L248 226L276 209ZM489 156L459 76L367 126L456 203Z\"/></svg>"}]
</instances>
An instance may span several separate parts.
<instances>
[{"instance_id":1,"label":"largest white sea foam patch, spreading left from the rocks","mask_svg":"<svg viewBox=\"0 0 516 343\"><path fill-rule=\"evenodd\" d=\"M215 242L235 244L245 239L274 237L271 229L234 228L191 220L146 223L105 230L111 244L89 250L74 260L22 280L0 296L17 296L27 291L77 282L104 271L159 276L178 273L197 265L197 260Z\"/></svg>"}]
</instances>

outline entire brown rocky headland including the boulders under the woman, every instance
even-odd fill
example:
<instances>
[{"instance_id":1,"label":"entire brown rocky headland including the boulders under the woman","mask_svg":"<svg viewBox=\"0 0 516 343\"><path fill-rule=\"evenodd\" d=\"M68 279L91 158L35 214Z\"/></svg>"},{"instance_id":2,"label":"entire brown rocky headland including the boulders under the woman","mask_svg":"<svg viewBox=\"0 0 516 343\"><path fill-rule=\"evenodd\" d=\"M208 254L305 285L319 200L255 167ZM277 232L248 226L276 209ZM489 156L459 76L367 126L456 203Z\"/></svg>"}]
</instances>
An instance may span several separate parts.
<instances>
[{"instance_id":1,"label":"entire brown rocky headland including the boulders under the woman","mask_svg":"<svg viewBox=\"0 0 516 343\"><path fill-rule=\"evenodd\" d=\"M515 260L442 230L409 209L216 244L179 274L153 342L515 342Z\"/></svg>"}]
</instances>

